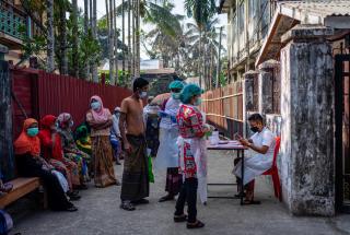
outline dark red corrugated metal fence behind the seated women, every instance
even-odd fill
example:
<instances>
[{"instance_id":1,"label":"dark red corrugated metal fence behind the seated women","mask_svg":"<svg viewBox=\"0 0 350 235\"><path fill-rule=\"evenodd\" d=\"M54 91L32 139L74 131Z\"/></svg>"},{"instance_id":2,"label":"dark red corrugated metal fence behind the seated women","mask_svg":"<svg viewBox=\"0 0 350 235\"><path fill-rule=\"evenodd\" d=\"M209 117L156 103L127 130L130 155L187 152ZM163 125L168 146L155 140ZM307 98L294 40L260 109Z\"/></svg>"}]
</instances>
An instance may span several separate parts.
<instances>
[{"instance_id":1,"label":"dark red corrugated metal fence behind the seated women","mask_svg":"<svg viewBox=\"0 0 350 235\"><path fill-rule=\"evenodd\" d=\"M90 97L98 95L104 106L113 110L131 92L127 89L96 84L71 77L33 70L13 70L12 91L28 117L70 113L75 125L84 121ZM23 111L13 101L14 136L21 131Z\"/></svg>"}]
</instances>

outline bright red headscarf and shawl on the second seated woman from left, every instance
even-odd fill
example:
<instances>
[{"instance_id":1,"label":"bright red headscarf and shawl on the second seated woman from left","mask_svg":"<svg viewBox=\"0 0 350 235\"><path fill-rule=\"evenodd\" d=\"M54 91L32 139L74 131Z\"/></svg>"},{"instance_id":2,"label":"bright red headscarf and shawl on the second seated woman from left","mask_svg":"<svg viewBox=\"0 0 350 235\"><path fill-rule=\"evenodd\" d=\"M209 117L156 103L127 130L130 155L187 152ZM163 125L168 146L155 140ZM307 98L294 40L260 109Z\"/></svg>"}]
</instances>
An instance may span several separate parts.
<instances>
[{"instance_id":1,"label":"bright red headscarf and shawl on the second seated woman from left","mask_svg":"<svg viewBox=\"0 0 350 235\"><path fill-rule=\"evenodd\" d=\"M42 130L39 131L39 139L42 142L42 151L44 158L55 158L58 161L63 160L63 151L61 144L61 137L55 133L55 142L52 142L52 133L50 126L55 125L56 117L52 115L45 116L42 121Z\"/></svg>"}]
</instances>

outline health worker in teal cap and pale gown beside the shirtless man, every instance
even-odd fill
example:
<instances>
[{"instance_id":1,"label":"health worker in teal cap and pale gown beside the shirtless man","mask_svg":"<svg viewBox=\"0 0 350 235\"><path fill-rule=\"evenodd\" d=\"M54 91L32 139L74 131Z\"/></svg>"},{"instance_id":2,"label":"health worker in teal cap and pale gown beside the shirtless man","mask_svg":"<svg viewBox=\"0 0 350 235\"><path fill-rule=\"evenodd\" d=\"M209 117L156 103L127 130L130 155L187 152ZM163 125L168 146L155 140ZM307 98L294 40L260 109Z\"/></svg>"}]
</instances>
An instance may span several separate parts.
<instances>
[{"instance_id":1,"label":"health worker in teal cap and pale gown beside the shirtless man","mask_svg":"<svg viewBox=\"0 0 350 235\"><path fill-rule=\"evenodd\" d=\"M178 138L178 126L176 115L180 106L179 94L184 89L184 83L174 81L170 84L172 96L163 104L164 111L160 113L160 146L154 161L154 167L158 169L166 169L165 191L167 195L159 201L164 202L174 200L178 195L183 176L178 173L178 146L176 144Z\"/></svg>"}]
</instances>

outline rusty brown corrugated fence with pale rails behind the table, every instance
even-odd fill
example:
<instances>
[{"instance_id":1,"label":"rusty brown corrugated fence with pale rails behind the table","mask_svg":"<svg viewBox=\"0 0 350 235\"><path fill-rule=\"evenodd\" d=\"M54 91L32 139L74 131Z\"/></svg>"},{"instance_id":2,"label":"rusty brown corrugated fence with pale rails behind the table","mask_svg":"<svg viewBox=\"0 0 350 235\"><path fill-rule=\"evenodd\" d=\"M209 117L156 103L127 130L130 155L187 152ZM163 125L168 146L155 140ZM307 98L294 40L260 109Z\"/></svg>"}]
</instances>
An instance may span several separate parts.
<instances>
[{"instance_id":1,"label":"rusty brown corrugated fence with pale rails behind the table","mask_svg":"<svg viewBox=\"0 0 350 235\"><path fill-rule=\"evenodd\" d=\"M243 134L243 92L242 82L206 92L202 110L208 122L214 125L226 137Z\"/></svg>"}]
</instances>

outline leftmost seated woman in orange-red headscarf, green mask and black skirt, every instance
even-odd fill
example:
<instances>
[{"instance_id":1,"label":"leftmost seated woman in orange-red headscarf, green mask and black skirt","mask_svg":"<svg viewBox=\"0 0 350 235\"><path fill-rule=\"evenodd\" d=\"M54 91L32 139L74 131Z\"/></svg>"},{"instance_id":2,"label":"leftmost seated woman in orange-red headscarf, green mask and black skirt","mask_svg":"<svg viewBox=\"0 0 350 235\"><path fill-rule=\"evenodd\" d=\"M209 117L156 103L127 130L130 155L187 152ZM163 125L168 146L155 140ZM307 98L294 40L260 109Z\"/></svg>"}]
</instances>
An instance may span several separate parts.
<instances>
[{"instance_id":1,"label":"leftmost seated woman in orange-red headscarf, green mask and black skirt","mask_svg":"<svg viewBox=\"0 0 350 235\"><path fill-rule=\"evenodd\" d=\"M37 137L38 125L35 119L26 119L19 139L14 142L18 171L24 177L39 177L47 189L48 205L55 211L77 211L68 201L58 178L45 165L40 155L40 140Z\"/></svg>"}]
</instances>

